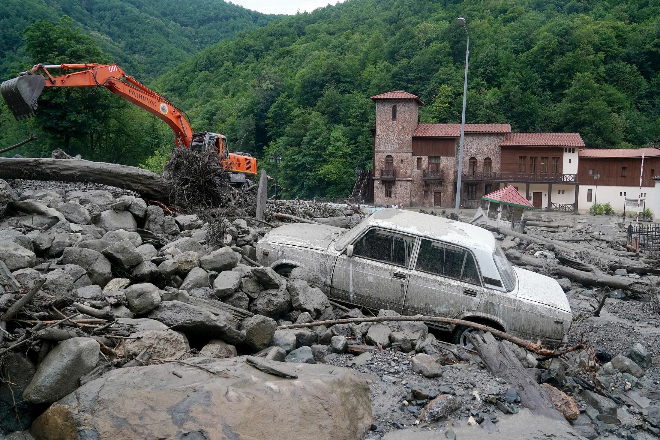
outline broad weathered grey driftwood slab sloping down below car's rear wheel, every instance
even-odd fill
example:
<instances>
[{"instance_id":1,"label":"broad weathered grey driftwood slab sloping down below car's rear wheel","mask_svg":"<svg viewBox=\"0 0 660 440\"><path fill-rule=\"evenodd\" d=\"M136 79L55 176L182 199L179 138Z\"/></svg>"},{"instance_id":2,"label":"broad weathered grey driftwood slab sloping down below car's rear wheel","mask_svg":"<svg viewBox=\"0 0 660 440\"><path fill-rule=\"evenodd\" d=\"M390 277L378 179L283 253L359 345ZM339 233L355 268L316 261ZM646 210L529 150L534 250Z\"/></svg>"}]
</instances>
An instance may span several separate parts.
<instances>
[{"instance_id":1,"label":"broad weathered grey driftwood slab sloping down below car's rear wheel","mask_svg":"<svg viewBox=\"0 0 660 440\"><path fill-rule=\"evenodd\" d=\"M532 414L544 416L571 429L566 419L554 407L541 385L525 371L510 348L501 344L490 333L470 337L475 350L486 364L488 371L506 380L520 396L520 403L529 408Z\"/></svg>"}]
</instances>

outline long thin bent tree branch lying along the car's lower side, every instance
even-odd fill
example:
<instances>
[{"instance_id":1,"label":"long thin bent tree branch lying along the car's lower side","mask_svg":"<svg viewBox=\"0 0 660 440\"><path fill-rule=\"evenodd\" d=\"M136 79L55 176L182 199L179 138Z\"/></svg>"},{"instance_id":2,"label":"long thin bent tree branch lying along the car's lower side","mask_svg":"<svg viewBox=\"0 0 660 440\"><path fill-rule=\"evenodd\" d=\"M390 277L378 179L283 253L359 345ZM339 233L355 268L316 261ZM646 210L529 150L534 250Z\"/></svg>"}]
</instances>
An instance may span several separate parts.
<instances>
[{"instance_id":1,"label":"long thin bent tree branch lying along the car's lower side","mask_svg":"<svg viewBox=\"0 0 660 440\"><path fill-rule=\"evenodd\" d=\"M472 327L473 329L481 330L483 332L491 332L500 339L508 340L513 342L517 346L525 348L536 354L541 354L542 356L562 356L568 352L578 350L578 348L584 348L584 343L581 342L577 346L566 348L564 350L549 350L548 348L543 348L541 344L536 342L531 342L529 340L524 340L517 338L512 334L503 332L502 330L494 329L488 327L487 325L473 323L472 321L464 321L463 319L453 319L453 318L444 318L439 316L380 316L380 317L365 317L365 318L345 318L345 319L328 319L327 321L316 321L315 323L304 323L304 324L290 324L290 325L281 325L280 330L286 329L303 329L305 327L317 327L319 325L331 326L335 324L349 324L349 323L380 323L382 321L422 321L425 323L446 323L453 325L465 325L467 327Z\"/></svg>"}]
</instances>

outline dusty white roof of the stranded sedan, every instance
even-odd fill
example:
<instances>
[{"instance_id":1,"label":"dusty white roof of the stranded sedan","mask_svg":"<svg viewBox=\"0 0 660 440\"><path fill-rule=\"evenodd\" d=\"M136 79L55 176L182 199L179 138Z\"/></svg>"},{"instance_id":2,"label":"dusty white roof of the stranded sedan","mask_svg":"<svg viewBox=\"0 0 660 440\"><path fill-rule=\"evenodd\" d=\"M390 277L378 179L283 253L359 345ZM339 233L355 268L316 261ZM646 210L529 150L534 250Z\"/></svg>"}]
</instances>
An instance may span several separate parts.
<instances>
[{"instance_id":1,"label":"dusty white roof of the stranded sedan","mask_svg":"<svg viewBox=\"0 0 660 440\"><path fill-rule=\"evenodd\" d=\"M495 237L479 226L422 212L385 208L374 212L366 223L488 253L496 246Z\"/></svg>"}]
</instances>

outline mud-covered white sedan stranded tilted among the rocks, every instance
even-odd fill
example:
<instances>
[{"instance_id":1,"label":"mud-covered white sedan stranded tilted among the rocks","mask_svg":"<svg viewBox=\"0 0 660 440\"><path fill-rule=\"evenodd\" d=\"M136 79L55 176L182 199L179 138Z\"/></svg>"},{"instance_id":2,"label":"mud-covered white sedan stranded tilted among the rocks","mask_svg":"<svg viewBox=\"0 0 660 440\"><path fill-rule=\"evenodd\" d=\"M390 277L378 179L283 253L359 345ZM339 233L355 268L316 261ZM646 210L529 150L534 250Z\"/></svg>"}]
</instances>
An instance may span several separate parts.
<instances>
[{"instance_id":1,"label":"mud-covered white sedan stranded tilted among the rocks","mask_svg":"<svg viewBox=\"0 0 660 440\"><path fill-rule=\"evenodd\" d=\"M284 275L321 274L343 303L476 321L548 346L573 320L558 282L512 267L490 232L419 212L379 210L352 230L281 226L259 240L257 259ZM470 345L469 328L440 328Z\"/></svg>"}]
</instances>

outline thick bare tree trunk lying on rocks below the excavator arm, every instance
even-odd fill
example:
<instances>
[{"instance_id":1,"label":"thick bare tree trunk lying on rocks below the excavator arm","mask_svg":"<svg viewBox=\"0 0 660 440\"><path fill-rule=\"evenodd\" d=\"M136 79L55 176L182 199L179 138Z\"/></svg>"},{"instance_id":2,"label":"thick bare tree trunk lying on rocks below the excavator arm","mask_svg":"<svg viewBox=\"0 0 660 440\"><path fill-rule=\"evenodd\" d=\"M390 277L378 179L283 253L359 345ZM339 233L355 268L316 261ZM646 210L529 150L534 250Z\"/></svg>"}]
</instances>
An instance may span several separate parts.
<instances>
[{"instance_id":1,"label":"thick bare tree trunk lying on rocks below the excavator arm","mask_svg":"<svg viewBox=\"0 0 660 440\"><path fill-rule=\"evenodd\" d=\"M99 183L135 191L149 199L166 199L168 182L135 166L82 159L0 158L0 179L57 180Z\"/></svg>"}]
</instances>

